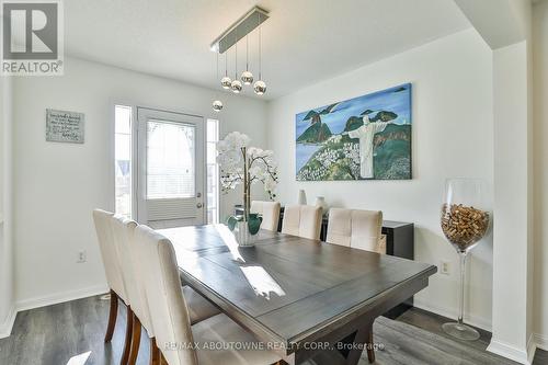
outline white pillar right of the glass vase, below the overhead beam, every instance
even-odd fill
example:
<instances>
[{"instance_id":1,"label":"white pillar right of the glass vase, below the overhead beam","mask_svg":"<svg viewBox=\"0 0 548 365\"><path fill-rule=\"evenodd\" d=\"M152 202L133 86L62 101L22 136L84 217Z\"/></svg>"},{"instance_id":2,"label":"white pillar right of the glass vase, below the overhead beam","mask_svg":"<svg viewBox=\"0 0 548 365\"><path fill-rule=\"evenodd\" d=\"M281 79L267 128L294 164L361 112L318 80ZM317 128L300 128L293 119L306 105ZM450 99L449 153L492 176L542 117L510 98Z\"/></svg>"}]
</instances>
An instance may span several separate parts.
<instances>
[{"instance_id":1,"label":"white pillar right of the glass vase, below the overhead beam","mask_svg":"<svg viewBox=\"0 0 548 365\"><path fill-rule=\"evenodd\" d=\"M494 232L493 337L489 351L527 358L533 300L529 266L529 117L527 43L493 53ZM518 267L509 270L507 267ZM532 307L530 307L532 308Z\"/></svg>"}]
</instances>

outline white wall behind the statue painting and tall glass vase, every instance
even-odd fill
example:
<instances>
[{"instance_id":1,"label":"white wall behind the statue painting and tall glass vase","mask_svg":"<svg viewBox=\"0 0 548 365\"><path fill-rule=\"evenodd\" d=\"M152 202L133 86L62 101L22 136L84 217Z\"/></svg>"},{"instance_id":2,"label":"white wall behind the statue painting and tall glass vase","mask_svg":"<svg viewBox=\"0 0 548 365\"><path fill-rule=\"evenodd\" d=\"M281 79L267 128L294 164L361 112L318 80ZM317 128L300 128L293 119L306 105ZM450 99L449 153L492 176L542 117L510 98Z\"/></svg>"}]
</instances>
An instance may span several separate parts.
<instances>
[{"instance_id":1,"label":"white wall behind the statue painting and tall glass vase","mask_svg":"<svg viewBox=\"0 0 548 365\"><path fill-rule=\"evenodd\" d=\"M386 219L415 224L415 260L452 262L449 276L436 274L416 304L442 315L457 311L458 263L439 228L446 178L493 182L492 53L476 31L444 37L403 54L296 91L269 103L269 146L281 161L279 198L295 203L299 189L309 201L380 209ZM297 182L295 114L389 87L413 84L413 180ZM467 318L491 326L492 239L473 251L469 265Z\"/></svg>"}]
</instances>

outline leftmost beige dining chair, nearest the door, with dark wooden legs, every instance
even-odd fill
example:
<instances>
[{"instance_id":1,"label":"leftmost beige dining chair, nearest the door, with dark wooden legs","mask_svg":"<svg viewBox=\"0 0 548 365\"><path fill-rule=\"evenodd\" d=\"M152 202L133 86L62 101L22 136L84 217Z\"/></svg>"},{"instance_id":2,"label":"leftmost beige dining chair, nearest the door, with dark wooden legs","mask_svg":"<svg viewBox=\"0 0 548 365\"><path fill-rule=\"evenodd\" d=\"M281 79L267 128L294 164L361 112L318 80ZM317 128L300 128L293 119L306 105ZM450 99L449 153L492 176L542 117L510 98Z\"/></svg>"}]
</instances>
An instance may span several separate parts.
<instances>
[{"instance_id":1,"label":"leftmost beige dining chair, nearest the door, with dark wooden legs","mask_svg":"<svg viewBox=\"0 0 548 365\"><path fill-rule=\"evenodd\" d=\"M122 277L122 267L119 264L119 258L114 242L114 236L111 227L111 219L114 213L105 212L102 209L93 210L93 221L95 224L95 231L99 239L99 248L101 251L101 258L103 261L103 267L105 271L106 283L109 284L111 293L111 306L109 311L109 324L106 327L106 333L104 342L111 342L112 335L114 333L114 327L116 326L116 317L118 313L118 301L127 307L128 297L126 294L124 280ZM130 311L127 311L127 323L129 324L133 320ZM130 326L126 328L126 343L130 338ZM125 346L125 352L123 357L126 358L129 355L129 347Z\"/></svg>"}]
</instances>

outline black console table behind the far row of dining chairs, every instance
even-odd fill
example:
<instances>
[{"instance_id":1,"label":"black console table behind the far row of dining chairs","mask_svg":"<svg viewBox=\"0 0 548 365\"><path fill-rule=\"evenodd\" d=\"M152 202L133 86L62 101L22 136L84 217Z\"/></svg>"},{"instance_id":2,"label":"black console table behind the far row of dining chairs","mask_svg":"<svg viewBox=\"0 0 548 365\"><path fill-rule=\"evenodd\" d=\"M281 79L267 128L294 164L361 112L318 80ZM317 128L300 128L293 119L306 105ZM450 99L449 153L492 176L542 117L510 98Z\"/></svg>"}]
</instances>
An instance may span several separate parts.
<instances>
[{"instance_id":1,"label":"black console table behind the far row of dining chairs","mask_svg":"<svg viewBox=\"0 0 548 365\"><path fill-rule=\"evenodd\" d=\"M241 206L235 207L236 215L242 215L243 208ZM279 223L277 230L282 231L282 221L284 220L284 207L279 210ZM323 216L321 221L320 239L326 241L328 236L327 215ZM414 260L414 225L411 223L383 220L383 235L386 235L386 254ZM399 306L393 307L385 313L385 317L395 319L403 313L409 308L413 307L413 297L409 298Z\"/></svg>"}]
</instances>

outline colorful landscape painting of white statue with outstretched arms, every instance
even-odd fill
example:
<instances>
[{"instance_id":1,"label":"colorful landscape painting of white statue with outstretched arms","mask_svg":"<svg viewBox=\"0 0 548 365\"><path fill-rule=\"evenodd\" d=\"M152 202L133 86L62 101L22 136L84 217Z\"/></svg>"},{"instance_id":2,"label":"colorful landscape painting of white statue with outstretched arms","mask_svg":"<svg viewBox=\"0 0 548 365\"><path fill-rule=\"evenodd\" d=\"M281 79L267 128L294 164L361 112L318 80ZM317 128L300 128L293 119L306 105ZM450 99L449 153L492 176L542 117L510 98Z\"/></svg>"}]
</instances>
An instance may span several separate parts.
<instances>
[{"instance_id":1,"label":"colorful landscape painting of white statue with outstretched arms","mask_svg":"<svg viewBox=\"0 0 548 365\"><path fill-rule=\"evenodd\" d=\"M298 181L411 179L411 83L296 115Z\"/></svg>"}]
</instances>

